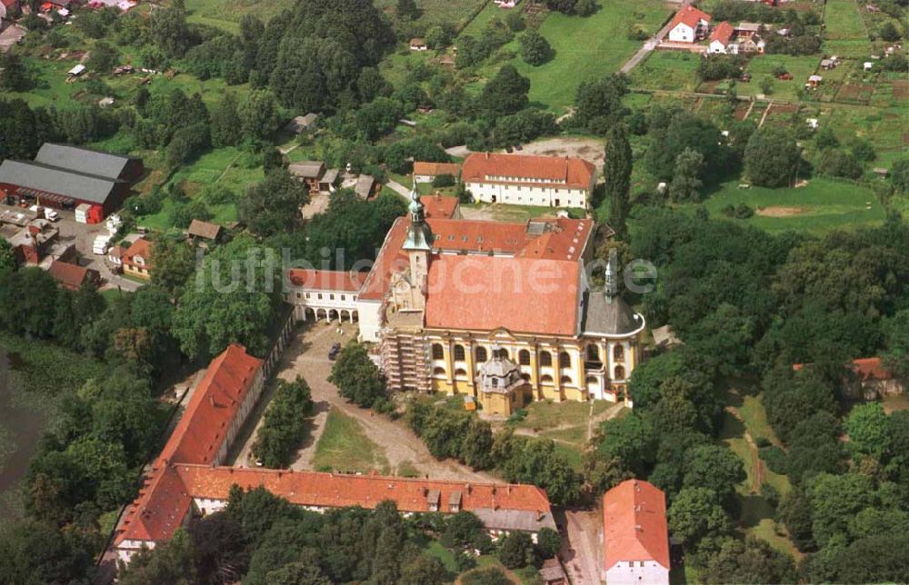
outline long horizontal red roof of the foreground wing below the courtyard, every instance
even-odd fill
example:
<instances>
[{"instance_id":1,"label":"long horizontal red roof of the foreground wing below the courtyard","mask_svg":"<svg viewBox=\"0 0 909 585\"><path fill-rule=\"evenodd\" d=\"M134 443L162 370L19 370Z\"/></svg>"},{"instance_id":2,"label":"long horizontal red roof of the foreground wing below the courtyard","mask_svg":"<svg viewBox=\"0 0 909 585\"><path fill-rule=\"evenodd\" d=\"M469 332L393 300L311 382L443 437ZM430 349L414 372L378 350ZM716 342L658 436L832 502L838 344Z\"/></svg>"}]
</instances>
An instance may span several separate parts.
<instances>
[{"instance_id":1,"label":"long horizontal red roof of the foreground wing below the courtyard","mask_svg":"<svg viewBox=\"0 0 909 585\"><path fill-rule=\"evenodd\" d=\"M196 498L226 500L232 485L244 489L265 487L293 504L340 508L361 506L371 509L382 501L395 501L400 511L430 511L426 496L439 491L440 509L447 510L455 491L461 493L463 510L500 508L515 511L549 512L546 492L533 485L464 483L421 480L380 475L346 475L277 471L250 468L209 467L176 464L186 490ZM455 496L456 497L456 496Z\"/></svg>"}]
</instances>

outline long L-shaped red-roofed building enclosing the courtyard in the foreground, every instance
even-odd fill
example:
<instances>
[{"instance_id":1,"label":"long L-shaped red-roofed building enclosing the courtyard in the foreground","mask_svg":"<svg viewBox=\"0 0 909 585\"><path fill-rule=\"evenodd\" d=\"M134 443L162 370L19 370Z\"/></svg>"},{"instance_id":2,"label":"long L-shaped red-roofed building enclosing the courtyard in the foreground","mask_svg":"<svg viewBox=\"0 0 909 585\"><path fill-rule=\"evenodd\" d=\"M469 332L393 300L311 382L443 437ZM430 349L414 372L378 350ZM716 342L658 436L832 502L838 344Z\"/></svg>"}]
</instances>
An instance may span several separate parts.
<instances>
[{"instance_id":1,"label":"long L-shaped red-roofed building enclosing the courtyard in the foreground","mask_svg":"<svg viewBox=\"0 0 909 585\"><path fill-rule=\"evenodd\" d=\"M372 509L382 501L394 501L405 513L471 511L494 538L514 530L535 538L540 529L555 529L545 491L532 485L226 467L227 451L262 387L262 361L242 345L215 357L115 529L120 560L154 549L194 517L223 510L234 485L263 487L311 511Z\"/></svg>"}]
</instances>

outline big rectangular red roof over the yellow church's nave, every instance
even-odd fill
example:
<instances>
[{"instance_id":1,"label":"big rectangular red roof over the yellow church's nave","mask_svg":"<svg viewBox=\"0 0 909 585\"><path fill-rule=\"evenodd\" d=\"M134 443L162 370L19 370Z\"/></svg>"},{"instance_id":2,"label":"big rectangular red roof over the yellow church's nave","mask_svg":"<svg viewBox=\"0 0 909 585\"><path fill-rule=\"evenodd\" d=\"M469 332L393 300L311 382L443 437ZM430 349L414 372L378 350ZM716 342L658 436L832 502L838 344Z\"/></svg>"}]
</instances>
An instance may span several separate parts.
<instances>
[{"instance_id":1,"label":"big rectangular red roof over the yellow church's nave","mask_svg":"<svg viewBox=\"0 0 909 585\"><path fill-rule=\"evenodd\" d=\"M440 254L429 266L430 329L574 335L580 263Z\"/></svg>"}]
</instances>

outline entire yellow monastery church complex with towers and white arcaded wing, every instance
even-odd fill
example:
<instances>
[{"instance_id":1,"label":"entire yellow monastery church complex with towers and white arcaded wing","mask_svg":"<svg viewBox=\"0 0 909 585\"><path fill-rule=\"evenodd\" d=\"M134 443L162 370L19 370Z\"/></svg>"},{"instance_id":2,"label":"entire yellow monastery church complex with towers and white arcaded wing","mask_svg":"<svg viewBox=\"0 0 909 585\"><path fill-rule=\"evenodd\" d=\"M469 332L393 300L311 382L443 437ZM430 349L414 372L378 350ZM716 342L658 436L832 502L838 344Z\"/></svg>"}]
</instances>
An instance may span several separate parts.
<instances>
[{"instance_id":1,"label":"entire yellow monastery church complex with towers and white arcaded wing","mask_svg":"<svg viewBox=\"0 0 909 585\"><path fill-rule=\"evenodd\" d=\"M630 406L644 317L611 270L605 292L587 282L594 222L455 219L456 204L427 217L431 199L411 194L365 279L290 271L297 318L358 320L394 390L473 396L504 416L534 400Z\"/></svg>"}]
</instances>

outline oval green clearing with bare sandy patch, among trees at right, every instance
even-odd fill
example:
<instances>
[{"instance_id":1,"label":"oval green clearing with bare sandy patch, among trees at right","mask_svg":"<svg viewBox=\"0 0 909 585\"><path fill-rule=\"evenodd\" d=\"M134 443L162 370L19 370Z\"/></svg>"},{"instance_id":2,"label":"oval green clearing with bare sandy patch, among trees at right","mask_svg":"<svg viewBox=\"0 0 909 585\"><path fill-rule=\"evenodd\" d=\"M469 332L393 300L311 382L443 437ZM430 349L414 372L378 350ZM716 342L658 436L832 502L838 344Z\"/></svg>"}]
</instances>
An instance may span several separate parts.
<instances>
[{"instance_id":1,"label":"oval green clearing with bare sandy patch, among trees at right","mask_svg":"<svg viewBox=\"0 0 909 585\"><path fill-rule=\"evenodd\" d=\"M837 228L858 227L884 220L884 206L871 189L830 179L811 179L799 189L739 189L738 181L723 183L704 201L714 217L724 217L727 205L746 203L754 210L747 220L768 232L796 230L824 233ZM694 205L686 205L694 210ZM776 216L773 216L776 215Z\"/></svg>"}]
</instances>

